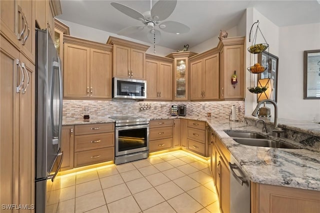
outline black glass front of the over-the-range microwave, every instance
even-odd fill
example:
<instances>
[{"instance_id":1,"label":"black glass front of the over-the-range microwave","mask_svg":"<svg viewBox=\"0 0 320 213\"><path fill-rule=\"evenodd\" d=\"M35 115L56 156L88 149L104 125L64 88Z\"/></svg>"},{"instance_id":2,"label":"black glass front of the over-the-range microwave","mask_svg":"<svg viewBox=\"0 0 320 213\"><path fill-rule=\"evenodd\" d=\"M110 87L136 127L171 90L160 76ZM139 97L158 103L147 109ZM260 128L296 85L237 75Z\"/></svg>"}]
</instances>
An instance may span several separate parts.
<instances>
[{"instance_id":1,"label":"black glass front of the over-the-range microwave","mask_svg":"<svg viewBox=\"0 0 320 213\"><path fill-rule=\"evenodd\" d=\"M144 83L117 80L117 95L144 96Z\"/></svg>"}]
</instances>

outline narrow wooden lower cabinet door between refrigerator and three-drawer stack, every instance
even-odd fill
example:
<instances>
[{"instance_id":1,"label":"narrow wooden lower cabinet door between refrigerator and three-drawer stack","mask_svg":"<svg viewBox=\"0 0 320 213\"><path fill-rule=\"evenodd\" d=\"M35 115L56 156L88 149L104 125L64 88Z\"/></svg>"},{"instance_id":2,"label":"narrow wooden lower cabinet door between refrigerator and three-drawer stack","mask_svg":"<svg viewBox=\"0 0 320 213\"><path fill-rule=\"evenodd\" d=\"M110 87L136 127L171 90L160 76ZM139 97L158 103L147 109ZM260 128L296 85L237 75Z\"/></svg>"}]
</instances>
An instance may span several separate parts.
<instances>
[{"instance_id":1,"label":"narrow wooden lower cabinet door between refrigerator and three-drawer stack","mask_svg":"<svg viewBox=\"0 0 320 213\"><path fill-rule=\"evenodd\" d=\"M62 126L62 140L61 151L63 152L63 160L60 171L73 168L73 141L74 141L74 126L64 125Z\"/></svg>"}]
</instances>

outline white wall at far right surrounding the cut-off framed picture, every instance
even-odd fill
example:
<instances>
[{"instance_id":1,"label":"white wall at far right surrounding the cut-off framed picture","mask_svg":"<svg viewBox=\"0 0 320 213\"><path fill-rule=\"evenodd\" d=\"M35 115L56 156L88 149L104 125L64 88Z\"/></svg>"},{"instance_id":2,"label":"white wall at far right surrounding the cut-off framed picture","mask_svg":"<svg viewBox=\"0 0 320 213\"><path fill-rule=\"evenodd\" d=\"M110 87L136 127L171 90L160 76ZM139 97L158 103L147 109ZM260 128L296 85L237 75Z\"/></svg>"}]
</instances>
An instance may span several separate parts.
<instances>
[{"instance_id":1,"label":"white wall at far right surrounding the cut-off framed picture","mask_svg":"<svg viewBox=\"0 0 320 213\"><path fill-rule=\"evenodd\" d=\"M303 99L303 51L320 49L320 23L280 27L279 116L320 121L320 100Z\"/></svg>"}]
</instances>

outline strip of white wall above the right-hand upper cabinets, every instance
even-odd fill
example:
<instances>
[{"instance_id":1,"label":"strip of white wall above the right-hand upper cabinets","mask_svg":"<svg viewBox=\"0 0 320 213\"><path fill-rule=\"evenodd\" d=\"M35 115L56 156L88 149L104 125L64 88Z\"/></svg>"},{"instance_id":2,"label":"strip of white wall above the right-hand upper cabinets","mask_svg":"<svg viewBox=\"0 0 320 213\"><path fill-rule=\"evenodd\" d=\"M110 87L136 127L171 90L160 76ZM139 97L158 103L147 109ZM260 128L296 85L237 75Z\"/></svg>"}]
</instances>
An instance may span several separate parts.
<instances>
[{"instance_id":1,"label":"strip of white wall above the right-hand upper cabinets","mask_svg":"<svg viewBox=\"0 0 320 213\"><path fill-rule=\"evenodd\" d=\"M234 37L237 36L237 30L236 26L230 28L230 29L224 29L228 33L228 37ZM218 45L219 42L219 34L203 41L202 43L199 43L196 46L190 46L188 50L191 52L201 53L206 50L212 49Z\"/></svg>"}]
</instances>

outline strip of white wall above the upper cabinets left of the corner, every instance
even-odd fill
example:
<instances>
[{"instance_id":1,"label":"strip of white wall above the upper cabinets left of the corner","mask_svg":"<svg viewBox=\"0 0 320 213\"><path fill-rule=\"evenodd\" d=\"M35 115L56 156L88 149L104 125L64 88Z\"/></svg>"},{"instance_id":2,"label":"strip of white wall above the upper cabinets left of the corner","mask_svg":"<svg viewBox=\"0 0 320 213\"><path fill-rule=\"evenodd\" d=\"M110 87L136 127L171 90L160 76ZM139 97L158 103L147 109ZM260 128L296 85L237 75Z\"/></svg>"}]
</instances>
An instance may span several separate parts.
<instances>
[{"instance_id":1,"label":"strip of white wall above the upper cabinets left of the corner","mask_svg":"<svg viewBox=\"0 0 320 213\"><path fill-rule=\"evenodd\" d=\"M121 36L121 35L117 35L115 33L112 32L107 32L107 31L103 31L100 29L96 29L96 28L92 28L89 26L84 26L81 24L77 24L74 22L70 22L70 21L66 21L66 20L62 20L59 19L60 21L62 21L63 23L65 23L67 26L69 26L70 28L70 35L74 36L74 37L79 37L79 38L83 38L86 40L92 40L92 41L96 41L96 42L100 42L100 43L106 43L107 39L109 36L114 36L114 37L119 37L122 39L126 39L126 40L130 40L130 41L134 41L137 43L142 43L145 45L149 45L150 48L148 48L146 50L146 53L148 54L153 54L153 45L151 43L147 43L147 42L143 42L140 40L136 40L136 39L132 39L126 36ZM174 49L170 49L164 46L159 46L156 45L155 46L155 55L159 55L159 56L165 56L168 55L171 52L175 52L176 50Z\"/></svg>"}]
</instances>

